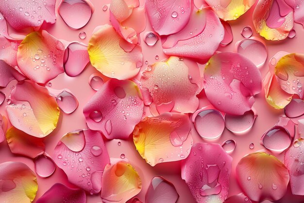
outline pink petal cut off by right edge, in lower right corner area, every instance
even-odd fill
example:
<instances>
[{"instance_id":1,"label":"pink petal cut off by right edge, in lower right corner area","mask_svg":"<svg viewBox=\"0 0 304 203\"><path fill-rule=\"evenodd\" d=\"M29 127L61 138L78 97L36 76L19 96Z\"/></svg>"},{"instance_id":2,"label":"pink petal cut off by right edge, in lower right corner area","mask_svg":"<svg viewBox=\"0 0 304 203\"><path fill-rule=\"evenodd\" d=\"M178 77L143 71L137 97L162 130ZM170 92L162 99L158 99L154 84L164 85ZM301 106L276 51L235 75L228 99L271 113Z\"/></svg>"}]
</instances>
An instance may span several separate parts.
<instances>
[{"instance_id":1,"label":"pink petal cut off by right edge, in lower right corner area","mask_svg":"<svg viewBox=\"0 0 304 203\"><path fill-rule=\"evenodd\" d=\"M294 144L286 151L285 166L290 176L291 192L294 195L304 195L304 140L295 140Z\"/></svg>"}]
</instances>

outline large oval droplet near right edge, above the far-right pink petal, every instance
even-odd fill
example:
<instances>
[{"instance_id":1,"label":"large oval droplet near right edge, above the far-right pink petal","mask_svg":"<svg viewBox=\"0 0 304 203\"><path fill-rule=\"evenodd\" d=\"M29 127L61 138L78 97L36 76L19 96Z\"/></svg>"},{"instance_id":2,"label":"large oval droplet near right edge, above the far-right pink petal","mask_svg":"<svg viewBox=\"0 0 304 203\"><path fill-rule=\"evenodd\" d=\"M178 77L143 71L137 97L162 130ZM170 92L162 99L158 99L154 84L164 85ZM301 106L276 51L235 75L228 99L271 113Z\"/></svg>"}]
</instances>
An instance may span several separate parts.
<instances>
[{"instance_id":1,"label":"large oval droplet near right edge, above the far-right pink petal","mask_svg":"<svg viewBox=\"0 0 304 203\"><path fill-rule=\"evenodd\" d=\"M289 147L290 143L291 137L287 129L282 126L274 126L261 137L261 144L271 151L282 152Z\"/></svg>"}]
</instances>

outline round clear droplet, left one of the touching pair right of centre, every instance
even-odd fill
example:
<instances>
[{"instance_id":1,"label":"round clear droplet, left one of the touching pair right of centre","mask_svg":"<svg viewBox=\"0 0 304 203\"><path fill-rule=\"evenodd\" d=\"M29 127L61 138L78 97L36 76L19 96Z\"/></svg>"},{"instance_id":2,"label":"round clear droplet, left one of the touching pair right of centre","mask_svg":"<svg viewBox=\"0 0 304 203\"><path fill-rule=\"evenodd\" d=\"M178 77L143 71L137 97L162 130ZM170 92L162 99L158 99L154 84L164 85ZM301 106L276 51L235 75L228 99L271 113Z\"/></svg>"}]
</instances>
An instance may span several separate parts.
<instances>
[{"instance_id":1,"label":"round clear droplet, left one of the touching pair right of centre","mask_svg":"<svg viewBox=\"0 0 304 203\"><path fill-rule=\"evenodd\" d=\"M225 122L220 111L204 110L195 117L194 126L201 137L215 139L220 137L224 131Z\"/></svg>"}]
</instances>

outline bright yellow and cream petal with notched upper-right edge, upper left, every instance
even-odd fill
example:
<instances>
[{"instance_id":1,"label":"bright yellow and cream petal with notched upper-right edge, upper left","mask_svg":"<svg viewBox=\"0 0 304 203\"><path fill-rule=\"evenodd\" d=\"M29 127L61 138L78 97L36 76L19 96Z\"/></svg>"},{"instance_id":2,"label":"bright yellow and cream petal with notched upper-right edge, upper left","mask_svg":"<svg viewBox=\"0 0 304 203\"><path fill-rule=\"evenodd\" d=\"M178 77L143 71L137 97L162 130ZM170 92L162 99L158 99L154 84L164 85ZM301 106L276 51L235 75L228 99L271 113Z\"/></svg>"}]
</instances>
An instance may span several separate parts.
<instances>
[{"instance_id":1,"label":"bright yellow and cream petal with notched upper-right edge, upper left","mask_svg":"<svg viewBox=\"0 0 304 203\"><path fill-rule=\"evenodd\" d=\"M110 25L101 26L91 37L88 53L92 66L107 77L119 80L134 77L142 65L139 45L130 52L120 47L122 39Z\"/></svg>"}]
</instances>

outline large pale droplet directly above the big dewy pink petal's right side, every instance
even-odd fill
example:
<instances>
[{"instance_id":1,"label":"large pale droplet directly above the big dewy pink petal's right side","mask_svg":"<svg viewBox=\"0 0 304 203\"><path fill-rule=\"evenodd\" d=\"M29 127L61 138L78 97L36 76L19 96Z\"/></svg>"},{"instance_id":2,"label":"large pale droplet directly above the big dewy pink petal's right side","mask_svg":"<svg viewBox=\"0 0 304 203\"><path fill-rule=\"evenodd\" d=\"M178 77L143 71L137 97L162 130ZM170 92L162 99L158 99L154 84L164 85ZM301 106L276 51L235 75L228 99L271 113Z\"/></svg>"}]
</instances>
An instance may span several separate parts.
<instances>
[{"instance_id":1,"label":"large pale droplet directly above the big dewy pink petal's right side","mask_svg":"<svg viewBox=\"0 0 304 203\"><path fill-rule=\"evenodd\" d=\"M267 58L266 46L255 39L244 39L236 43L237 53L246 56L257 67L262 66Z\"/></svg>"}]
</instances>

